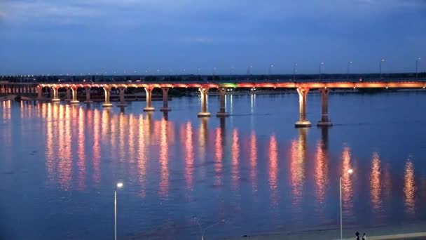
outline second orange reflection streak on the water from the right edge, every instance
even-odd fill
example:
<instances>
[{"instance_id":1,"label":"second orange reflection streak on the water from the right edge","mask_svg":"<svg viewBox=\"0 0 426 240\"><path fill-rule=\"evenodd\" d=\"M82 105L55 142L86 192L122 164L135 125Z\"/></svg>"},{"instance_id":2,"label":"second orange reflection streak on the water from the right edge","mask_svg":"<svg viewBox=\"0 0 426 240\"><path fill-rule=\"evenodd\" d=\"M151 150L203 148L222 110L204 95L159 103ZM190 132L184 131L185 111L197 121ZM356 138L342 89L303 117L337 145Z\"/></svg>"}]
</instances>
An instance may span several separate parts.
<instances>
[{"instance_id":1,"label":"second orange reflection streak on the water from the right edge","mask_svg":"<svg viewBox=\"0 0 426 240\"><path fill-rule=\"evenodd\" d=\"M370 175L370 195L371 195L371 204L373 206L373 211L378 211L382 205L381 191L382 186L380 183L380 159L378 153L373 153L373 161L371 161L371 175Z\"/></svg>"}]
</instances>

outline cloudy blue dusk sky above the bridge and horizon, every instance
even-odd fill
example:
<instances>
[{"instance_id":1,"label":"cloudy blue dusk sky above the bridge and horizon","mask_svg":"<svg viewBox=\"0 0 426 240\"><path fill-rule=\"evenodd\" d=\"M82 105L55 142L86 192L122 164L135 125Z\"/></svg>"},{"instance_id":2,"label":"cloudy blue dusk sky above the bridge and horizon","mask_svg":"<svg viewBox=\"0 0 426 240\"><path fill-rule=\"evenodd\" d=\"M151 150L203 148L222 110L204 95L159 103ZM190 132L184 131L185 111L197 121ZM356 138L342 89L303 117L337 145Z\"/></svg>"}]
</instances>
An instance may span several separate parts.
<instances>
[{"instance_id":1,"label":"cloudy blue dusk sky above the bridge and horizon","mask_svg":"<svg viewBox=\"0 0 426 240\"><path fill-rule=\"evenodd\" d=\"M418 58L426 71L426 0L0 0L0 74L415 72Z\"/></svg>"}]
</instances>

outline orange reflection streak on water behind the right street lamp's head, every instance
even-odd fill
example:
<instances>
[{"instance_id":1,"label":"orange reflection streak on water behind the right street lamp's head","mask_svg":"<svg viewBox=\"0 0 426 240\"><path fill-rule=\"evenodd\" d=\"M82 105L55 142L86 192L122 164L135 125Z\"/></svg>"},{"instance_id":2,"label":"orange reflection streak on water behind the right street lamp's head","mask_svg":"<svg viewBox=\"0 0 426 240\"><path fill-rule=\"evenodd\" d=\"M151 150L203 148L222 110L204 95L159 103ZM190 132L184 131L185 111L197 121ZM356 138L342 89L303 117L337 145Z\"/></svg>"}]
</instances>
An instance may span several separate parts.
<instances>
[{"instance_id":1,"label":"orange reflection streak on water behind the right street lamp's head","mask_svg":"<svg viewBox=\"0 0 426 240\"><path fill-rule=\"evenodd\" d=\"M345 212L349 213L353 207L353 192L352 192L352 180L350 173L348 173L349 169L352 169L350 164L351 154L350 148L344 147L342 154L342 201L343 208L345 208Z\"/></svg>"}]
</instances>

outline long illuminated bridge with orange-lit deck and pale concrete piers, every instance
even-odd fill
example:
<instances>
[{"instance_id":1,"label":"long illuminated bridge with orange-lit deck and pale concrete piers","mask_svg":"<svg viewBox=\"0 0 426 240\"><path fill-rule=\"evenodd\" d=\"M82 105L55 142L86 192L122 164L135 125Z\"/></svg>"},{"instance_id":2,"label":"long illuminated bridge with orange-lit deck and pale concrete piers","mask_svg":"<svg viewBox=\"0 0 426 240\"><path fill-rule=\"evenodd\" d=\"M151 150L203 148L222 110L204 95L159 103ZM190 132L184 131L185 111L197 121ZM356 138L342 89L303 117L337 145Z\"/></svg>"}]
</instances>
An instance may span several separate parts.
<instances>
[{"instance_id":1,"label":"long illuminated bridge with orange-lit deck and pale concrete piers","mask_svg":"<svg viewBox=\"0 0 426 240\"><path fill-rule=\"evenodd\" d=\"M110 102L110 91L116 88L120 93L120 102L118 106L125 106L124 93L126 88L144 88L146 91L146 107L144 112L155 111L152 106L152 91L154 88L160 88L163 92L163 107L160 111L170 111L168 106L168 92L170 88L198 88L201 98L201 111L198 113L199 117L208 117L211 114L207 111L207 95L209 89L217 89L219 93L219 111L216 116L228 116L225 108L225 95L228 88L293 88L296 89L299 96L299 119L296 121L296 127L309 127L312 124L306 119L306 102L308 93L311 89L317 89L321 94L321 118L317 126L331 126L332 123L329 119L329 90L336 88L426 88L426 79L381 79L375 81L236 81L233 83L226 82L70 82L70 83L8 83L0 82L0 93L16 94L16 93L34 93L37 95L38 100L43 99L43 89L50 89L50 101L59 102L58 90L60 88L67 89L67 98L69 104L78 104L77 99L78 89L85 89L85 103L92 102L90 100L90 89L101 88L104 90L104 104L103 107L112 107Z\"/></svg>"}]
</instances>

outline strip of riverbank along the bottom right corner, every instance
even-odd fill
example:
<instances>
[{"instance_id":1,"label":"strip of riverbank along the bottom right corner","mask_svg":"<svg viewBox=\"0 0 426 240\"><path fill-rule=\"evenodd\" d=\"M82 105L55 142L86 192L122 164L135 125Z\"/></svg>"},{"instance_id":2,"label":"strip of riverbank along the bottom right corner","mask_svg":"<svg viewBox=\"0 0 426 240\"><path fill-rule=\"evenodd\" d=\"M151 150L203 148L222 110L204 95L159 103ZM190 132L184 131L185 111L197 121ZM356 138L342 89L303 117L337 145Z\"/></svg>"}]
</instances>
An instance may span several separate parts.
<instances>
[{"instance_id":1,"label":"strip of riverbank along the bottom right corner","mask_svg":"<svg viewBox=\"0 0 426 240\"><path fill-rule=\"evenodd\" d=\"M367 239L426 239L426 222L415 224L401 224L378 227L351 227L343 229L343 239L355 239L355 232L361 235L365 232ZM308 229L305 231L277 231L268 233L247 234L245 236L227 236L222 240L275 240L275 239L340 239L340 229Z\"/></svg>"}]
</instances>

